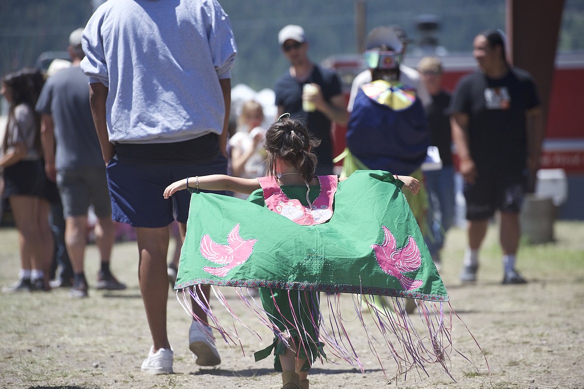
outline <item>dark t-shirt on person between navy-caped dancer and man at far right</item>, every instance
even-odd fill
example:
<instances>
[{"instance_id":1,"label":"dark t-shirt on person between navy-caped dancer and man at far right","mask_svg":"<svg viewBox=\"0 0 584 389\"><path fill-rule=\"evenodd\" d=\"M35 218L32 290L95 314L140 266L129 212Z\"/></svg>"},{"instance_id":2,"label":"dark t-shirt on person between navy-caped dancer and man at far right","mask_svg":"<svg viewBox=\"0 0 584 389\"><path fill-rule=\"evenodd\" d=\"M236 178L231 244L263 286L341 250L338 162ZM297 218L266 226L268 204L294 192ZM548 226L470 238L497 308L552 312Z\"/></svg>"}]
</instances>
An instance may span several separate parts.
<instances>
[{"instance_id":1,"label":"dark t-shirt on person between navy-caped dancer and man at far right","mask_svg":"<svg viewBox=\"0 0 584 389\"><path fill-rule=\"evenodd\" d=\"M441 90L436 96L432 96L432 103L425 108L432 146L438 148L443 166L452 166L449 106L450 93Z\"/></svg>"}]
</instances>

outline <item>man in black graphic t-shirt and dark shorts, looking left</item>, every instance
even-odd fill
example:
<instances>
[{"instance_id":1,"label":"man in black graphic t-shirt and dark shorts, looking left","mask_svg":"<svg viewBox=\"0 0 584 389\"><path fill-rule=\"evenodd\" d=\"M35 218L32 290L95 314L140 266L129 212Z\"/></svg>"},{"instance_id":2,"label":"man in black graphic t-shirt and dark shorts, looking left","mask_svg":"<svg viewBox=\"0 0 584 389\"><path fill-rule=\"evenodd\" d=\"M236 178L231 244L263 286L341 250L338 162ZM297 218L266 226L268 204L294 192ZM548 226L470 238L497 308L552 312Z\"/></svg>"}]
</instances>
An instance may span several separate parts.
<instances>
[{"instance_id":1,"label":"man in black graphic t-shirt and dark shorts, looking left","mask_svg":"<svg viewBox=\"0 0 584 389\"><path fill-rule=\"evenodd\" d=\"M498 209L503 284L525 283L515 270L515 256L527 178L535 176L541 153L540 102L529 73L507 64L498 31L478 34L473 47L479 71L460 80L450 106L467 201L469 247L460 278L475 281L478 250Z\"/></svg>"}]
</instances>

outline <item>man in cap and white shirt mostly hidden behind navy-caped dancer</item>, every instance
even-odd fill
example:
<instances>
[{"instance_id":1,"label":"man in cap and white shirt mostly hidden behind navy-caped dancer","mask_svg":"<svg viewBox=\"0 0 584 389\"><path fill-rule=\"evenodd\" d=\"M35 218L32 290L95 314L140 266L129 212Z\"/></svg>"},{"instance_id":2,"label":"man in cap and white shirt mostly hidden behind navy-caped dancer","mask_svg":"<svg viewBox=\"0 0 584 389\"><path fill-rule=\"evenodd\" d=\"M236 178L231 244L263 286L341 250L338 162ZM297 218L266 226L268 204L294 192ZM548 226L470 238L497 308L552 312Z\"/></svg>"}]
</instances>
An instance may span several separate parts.
<instances>
[{"instance_id":1,"label":"man in cap and white shirt mostly hidden behind navy-caped dancer","mask_svg":"<svg viewBox=\"0 0 584 389\"><path fill-rule=\"evenodd\" d=\"M404 85L408 85L416 89L417 95L422 101L422 105L424 107L430 104L432 102L432 98L430 97L426 87L422 82L420 82L420 74L418 71L403 64L403 57L406 49L406 40L403 34L403 30L399 29L399 27L376 27L375 29L371 30L365 42L365 50L374 50L376 48L379 50L381 47L384 47L385 50L401 52L402 64L399 65L399 75L397 79L404 83ZM351 86L347 111L353 111L355 96L357 96L357 92L359 92L360 87L366 83L371 82L371 71L371 69L366 69L354 78L353 84Z\"/></svg>"}]
</instances>

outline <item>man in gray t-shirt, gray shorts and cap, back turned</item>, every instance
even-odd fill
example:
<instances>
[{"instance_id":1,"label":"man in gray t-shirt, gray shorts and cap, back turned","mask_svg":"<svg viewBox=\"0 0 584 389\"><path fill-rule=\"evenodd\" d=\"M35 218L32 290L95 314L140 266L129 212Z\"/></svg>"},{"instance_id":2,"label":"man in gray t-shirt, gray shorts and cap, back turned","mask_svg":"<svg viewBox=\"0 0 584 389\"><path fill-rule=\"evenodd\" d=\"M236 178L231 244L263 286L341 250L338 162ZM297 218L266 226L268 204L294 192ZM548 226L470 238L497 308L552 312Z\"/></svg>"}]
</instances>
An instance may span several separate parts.
<instances>
[{"instance_id":1,"label":"man in gray t-shirt, gray shorts and cap, back turned","mask_svg":"<svg viewBox=\"0 0 584 389\"><path fill-rule=\"evenodd\" d=\"M115 227L106 170L89 106L89 77L80 67L85 57L82 34L83 29L77 29L69 36L71 66L47 79L36 105L41 114L45 170L50 180L57 181L63 204L65 246L74 271L72 297L88 296L84 257L90 205L98 216L94 231L101 255L96 288L126 288L110 271Z\"/></svg>"}]
</instances>

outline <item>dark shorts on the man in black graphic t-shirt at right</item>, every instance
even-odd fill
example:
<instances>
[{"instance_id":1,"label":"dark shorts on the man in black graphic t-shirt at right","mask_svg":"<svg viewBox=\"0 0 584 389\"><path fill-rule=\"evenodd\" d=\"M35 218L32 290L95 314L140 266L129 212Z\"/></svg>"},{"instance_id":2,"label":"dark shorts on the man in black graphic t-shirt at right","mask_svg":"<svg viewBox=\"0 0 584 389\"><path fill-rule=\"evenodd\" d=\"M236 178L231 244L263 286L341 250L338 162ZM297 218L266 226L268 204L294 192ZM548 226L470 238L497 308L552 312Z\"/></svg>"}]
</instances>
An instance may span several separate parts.
<instances>
[{"instance_id":1,"label":"dark shorts on the man in black graphic t-shirt at right","mask_svg":"<svg viewBox=\"0 0 584 389\"><path fill-rule=\"evenodd\" d=\"M464 183L467 220L489 219L496 210L519 213L525 197L527 174L481 172L474 184Z\"/></svg>"}]
</instances>

